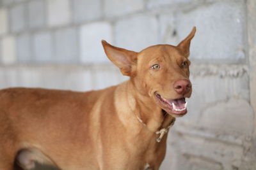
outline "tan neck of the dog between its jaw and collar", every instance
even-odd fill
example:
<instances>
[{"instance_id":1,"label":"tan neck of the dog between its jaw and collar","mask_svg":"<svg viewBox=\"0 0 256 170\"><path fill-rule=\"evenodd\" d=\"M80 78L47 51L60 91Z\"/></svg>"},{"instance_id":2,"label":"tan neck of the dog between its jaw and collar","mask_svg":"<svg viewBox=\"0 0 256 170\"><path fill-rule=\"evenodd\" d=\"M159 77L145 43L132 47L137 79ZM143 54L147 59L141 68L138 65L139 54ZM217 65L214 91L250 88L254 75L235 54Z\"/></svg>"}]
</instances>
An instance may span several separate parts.
<instances>
[{"instance_id":1,"label":"tan neck of the dog between its jaw and collar","mask_svg":"<svg viewBox=\"0 0 256 170\"><path fill-rule=\"evenodd\" d=\"M150 96L141 94L131 80L126 83L127 103L134 116L141 120L141 124L145 124L149 131L157 132L173 122L175 118L163 112Z\"/></svg>"}]
</instances>

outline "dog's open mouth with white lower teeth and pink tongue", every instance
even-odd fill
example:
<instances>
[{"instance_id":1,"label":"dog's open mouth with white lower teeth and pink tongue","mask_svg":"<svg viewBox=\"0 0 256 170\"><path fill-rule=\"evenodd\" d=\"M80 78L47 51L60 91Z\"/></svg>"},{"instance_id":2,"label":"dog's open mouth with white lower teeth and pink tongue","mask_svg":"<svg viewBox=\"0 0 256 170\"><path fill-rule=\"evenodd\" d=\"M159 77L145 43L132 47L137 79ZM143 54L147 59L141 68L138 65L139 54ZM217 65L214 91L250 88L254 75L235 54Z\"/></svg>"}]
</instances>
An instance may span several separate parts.
<instances>
[{"instance_id":1,"label":"dog's open mouth with white lower teeth and pink tongue","mask_svg":"<svg viewBox=\"0 0 256 170\"><path fill-rule=\"evenodd\" d=\"M159 106L170 115L180 117L188 112L186 99L184 97L180 99L168 100L164 99L164 97L157 92L155 92L155 96Z\"/></svg>"}]
</instances>

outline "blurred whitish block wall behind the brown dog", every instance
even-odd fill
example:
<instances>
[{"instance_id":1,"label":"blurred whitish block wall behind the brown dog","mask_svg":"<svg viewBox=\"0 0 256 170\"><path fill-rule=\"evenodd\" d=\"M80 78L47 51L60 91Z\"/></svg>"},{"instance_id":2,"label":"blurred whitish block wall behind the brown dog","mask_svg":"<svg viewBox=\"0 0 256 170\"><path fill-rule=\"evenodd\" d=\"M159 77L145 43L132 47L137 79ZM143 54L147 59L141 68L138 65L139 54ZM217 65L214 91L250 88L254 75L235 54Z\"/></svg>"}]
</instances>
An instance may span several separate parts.
<instances>
[{"instance_id":1,"label":"blurred whitish block wall behind the brown dog","mask_svg":"<svg viewBox=\"0 0 256 170\"><path fill-rule=\"evenodd\" d=\"M193 96L161 170L256 169L255 0L0 0L0 88L116 85L101 39L139 52L194 25Z\"/></svg>"}]
</instances>

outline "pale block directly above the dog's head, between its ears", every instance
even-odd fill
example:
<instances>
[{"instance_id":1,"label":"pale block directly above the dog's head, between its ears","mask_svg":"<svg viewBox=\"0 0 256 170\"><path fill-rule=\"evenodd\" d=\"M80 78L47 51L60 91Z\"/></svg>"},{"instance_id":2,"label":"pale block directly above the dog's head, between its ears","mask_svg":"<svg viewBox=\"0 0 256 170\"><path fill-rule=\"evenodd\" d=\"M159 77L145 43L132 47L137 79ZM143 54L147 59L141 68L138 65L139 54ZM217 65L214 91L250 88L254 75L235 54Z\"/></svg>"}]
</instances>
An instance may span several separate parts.
<instances>
[{"instance_id":1,"label":"pale block directly above the dog's head, between its ears","mask_svg":"<svg viewBox=\"0 0 256 170\"><path fill-rule=\"evenodd\" d=\"M116 46L140 51L158 41L157 19L155 15L134 15L118 20L115 24Z\"/></svg>"}]
</instances>

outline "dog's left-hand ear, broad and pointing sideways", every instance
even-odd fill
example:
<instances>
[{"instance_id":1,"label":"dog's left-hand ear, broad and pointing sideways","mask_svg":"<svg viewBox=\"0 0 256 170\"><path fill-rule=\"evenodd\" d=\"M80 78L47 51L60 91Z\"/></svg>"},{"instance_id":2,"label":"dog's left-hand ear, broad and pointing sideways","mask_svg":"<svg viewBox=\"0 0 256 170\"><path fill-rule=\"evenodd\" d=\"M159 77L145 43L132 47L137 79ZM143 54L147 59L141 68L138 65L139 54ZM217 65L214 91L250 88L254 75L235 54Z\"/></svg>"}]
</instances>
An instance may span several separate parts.
<instances>
[{"instance_id":1,"label":"dog's left-hand ear, broad and pointing sideways","mask_svg":"<svg viewBox=\"0 0 256 170\"><path fill-rule=\"evenodd\" d=\"M101 42L109 60L119 67L122 74L125 76L134 76L138 53L110 45L105 40Z\"/></svg>"}]
</instances>

